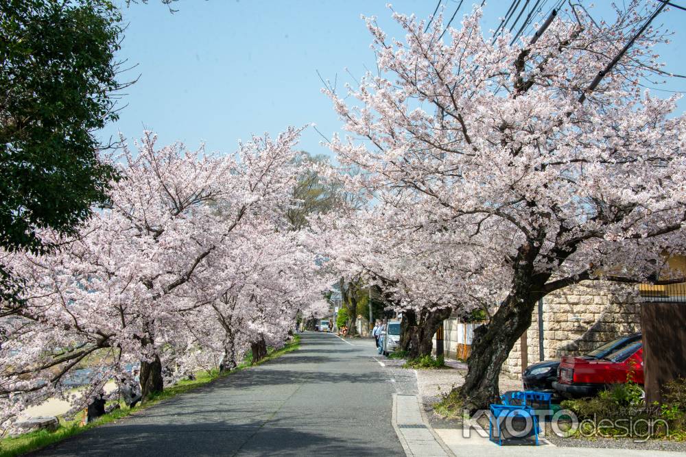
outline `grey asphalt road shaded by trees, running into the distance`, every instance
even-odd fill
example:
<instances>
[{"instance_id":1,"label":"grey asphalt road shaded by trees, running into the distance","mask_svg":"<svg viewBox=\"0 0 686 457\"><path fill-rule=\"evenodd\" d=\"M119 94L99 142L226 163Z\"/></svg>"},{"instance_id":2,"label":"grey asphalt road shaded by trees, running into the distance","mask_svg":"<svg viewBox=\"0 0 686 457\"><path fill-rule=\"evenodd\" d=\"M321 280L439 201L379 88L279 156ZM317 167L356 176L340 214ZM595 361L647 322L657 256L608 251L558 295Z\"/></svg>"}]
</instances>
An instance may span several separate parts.
<instances>
[{"instance_id":1,"label":"grey asphalt road shaded by trees, running into the distance","mask_svg":"<svg viewBox=\"0 0 686 457\"><path fill-rule=\"evenodd\" d=\"M305 333L297 351L36 455L404 455L391 425L401 384L373 341L354 343Z\"/></svg>"}]
</instances>

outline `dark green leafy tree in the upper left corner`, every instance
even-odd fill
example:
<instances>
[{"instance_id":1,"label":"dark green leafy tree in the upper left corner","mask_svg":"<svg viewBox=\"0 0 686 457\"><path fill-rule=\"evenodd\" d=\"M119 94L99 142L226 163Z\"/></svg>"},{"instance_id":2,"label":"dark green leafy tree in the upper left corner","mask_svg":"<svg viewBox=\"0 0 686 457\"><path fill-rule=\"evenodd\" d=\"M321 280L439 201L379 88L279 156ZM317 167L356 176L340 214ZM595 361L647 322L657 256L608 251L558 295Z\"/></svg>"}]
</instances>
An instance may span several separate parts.
<instances>
[{"instance_id":1,"label":"dark green leafy tree in the upper left corner","mask_svg":"<svg viewBox=\"0 0 686 457\"><path fill-rule=\"evenodd\" d=\"M38 230L73 234L107 200L115 169L99 160L94 132L117 119L120 21L108 0L0 3L0 246L8 251L40 254L49 246ZM0 275L12 272L0 265Z\"/></svg>"}]
</instances>

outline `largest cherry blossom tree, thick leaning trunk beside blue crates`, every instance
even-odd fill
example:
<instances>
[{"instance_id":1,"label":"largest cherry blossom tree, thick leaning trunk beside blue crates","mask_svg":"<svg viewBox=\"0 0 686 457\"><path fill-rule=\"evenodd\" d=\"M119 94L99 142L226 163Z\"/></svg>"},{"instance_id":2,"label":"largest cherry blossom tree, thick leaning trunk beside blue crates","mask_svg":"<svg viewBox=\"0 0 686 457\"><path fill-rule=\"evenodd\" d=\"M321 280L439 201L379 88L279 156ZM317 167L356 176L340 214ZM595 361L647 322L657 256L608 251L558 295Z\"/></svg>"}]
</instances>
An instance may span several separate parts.
<instances>
[{"instance_id":1,"label":"largest cherry blossom tree, thick leaning trunk beside blue crates","mask_svg":"<svg viewBox=\"0 0 686 457\"><path fill-rule=\"evenodd\" d=\"M427 27L394 13L404 41L367 18L379 73L345 95L324 89L357 137L331 149L360 171L353 184L392 208L381 225L421 245L451 234L446 249L473 256L478 276L456 285L472 281L497 306L459 390L470 409L497 398L500 367L547 293L677 280L665 255L684 251L686 121L676 97L641 89L665 74L652 47L667 40L642 11L633 1L595 23L570 7L512 45L484 35L479 8L445 38L442 16Z\"/></svg>"}]
</instances>

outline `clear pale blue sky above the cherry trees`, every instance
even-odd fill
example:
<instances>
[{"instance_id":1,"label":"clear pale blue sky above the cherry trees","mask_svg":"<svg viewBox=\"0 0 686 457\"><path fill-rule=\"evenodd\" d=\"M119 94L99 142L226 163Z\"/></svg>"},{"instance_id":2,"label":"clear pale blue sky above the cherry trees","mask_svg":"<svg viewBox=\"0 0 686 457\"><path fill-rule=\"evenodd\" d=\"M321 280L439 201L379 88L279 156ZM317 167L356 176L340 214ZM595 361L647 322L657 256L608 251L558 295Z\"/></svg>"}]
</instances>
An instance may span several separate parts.
<instances>
[{"instance_id":1,"label":"clear pale blue sky above the cherry trees","mask_svg":"<svg viewBox=\"0 0 686 457\"><path fill-rule=\"evenodd\" d=\"M622 0L619 0L620 2ZM674 0L686 5L686 0ZM316 73L338 86L351 82L346 68L359 77L374 69L371 38L360 14L375 15L390 36L403 33L390 18L386 1L377 0L180 0L170 14L158 0L123 8L128 23L119 59L137 66L126 73L139 81L126 90L119 121L101 133L121 132L128 143L143 129L157 132L163 144L182 140L189 148L201 141L210 151L226 153L239 138L277 134L287 125L316 123L327 137L342 123L329 99L320 93ZM399 12L429 16L435 0L394 1ZM448 14L457 1L444 0ZM465 0L455 23L471 10ZM532 2L534 3L534 2ZM550 4L553 2L550 1ZM589 5L590 1L582 1ZM608 14L609 2L597 0L594 15ZM648 0L646 0L648 3ZM510 1L491 0L484 7L484 29L493 29ZM659 49L667 70L686 74L686 11L672 9L659 16L675 31L672 43ZM686 79L672 79L669 90L686 90ZM668 92L654 92L659 96ZM686 101L679 103L680 112ZM303 133L300 148L329 153L312 128Z\"/></svg>"}]
</instances>

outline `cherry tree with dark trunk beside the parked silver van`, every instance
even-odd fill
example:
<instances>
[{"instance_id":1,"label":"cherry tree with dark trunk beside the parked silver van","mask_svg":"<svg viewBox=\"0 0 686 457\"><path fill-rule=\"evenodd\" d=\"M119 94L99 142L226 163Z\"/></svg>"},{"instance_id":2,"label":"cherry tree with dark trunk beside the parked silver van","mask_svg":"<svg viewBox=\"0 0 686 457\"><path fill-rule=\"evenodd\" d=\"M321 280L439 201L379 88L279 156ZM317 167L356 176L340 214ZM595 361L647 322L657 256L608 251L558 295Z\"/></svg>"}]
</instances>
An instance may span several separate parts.
<instances>
[{"instance_id":1,"label":"cherry tree with dark trunk beside the parked silver van","mask_svg":"<svg viewBox=\"0 0 686 457\"><path fill-rule=\"evenodd\" d=\"M342 275L344 285L378 286L386 308L403 314L401 349L409 358L431 354L431 339L453 312L488 310L480 298L494 295L475 292L480 264L469 245L455 245L459 240L445 230L428 237L406 230L414 227L416 216L379 203L337 214L320 227L322 238L329 239L330 267Z\"/></svg>"}]
</instances>

